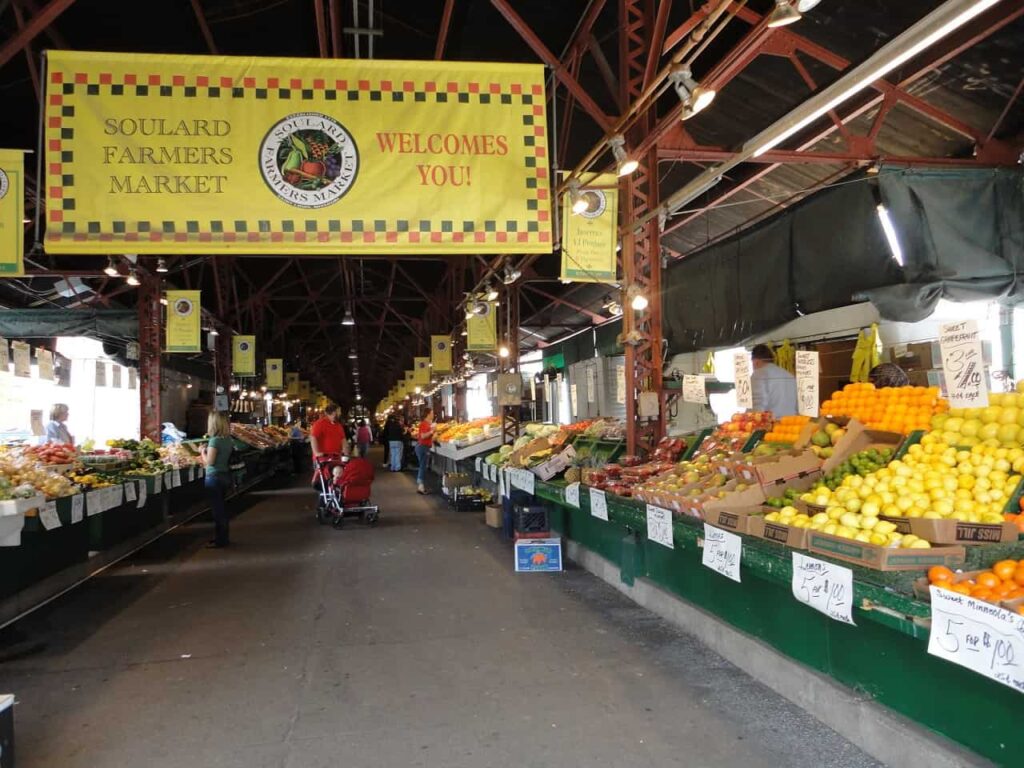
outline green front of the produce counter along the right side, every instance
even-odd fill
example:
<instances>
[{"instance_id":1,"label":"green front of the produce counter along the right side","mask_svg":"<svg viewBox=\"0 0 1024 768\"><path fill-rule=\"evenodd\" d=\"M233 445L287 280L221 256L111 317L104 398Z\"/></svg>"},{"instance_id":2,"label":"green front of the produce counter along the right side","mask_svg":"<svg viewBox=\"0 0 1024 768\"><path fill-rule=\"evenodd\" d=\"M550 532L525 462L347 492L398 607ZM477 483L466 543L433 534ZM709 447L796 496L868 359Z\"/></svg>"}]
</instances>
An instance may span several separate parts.
<instances>
[{"instance_id":1,"label":"green front of the produce counter along the right side","mask_svg":"<svg viewBox=\"0 0 1024 768\"><path fill-rule=\"evenodd\" d=\"M828 675L895 712L1000 765L1019 764L1024 694L928 653L931 607L913 595L918 571L879 571L850 563L854 608L850 626L799 602L792 594L793 558L779 544L742 536L741 583L702 566L703 523L675 518L675 549L647 541L646 507L607 495L608 521L565 502L564 482L538 482L552 509L551 524L616 564L622 580L647 579L781 653ZM964 568L993 558L1022 558L1024 544L969 547ZM815 558L826 557L813 554ZM1017 756L1017 757L1014 757Z\"/></svg>"}]
</instances>

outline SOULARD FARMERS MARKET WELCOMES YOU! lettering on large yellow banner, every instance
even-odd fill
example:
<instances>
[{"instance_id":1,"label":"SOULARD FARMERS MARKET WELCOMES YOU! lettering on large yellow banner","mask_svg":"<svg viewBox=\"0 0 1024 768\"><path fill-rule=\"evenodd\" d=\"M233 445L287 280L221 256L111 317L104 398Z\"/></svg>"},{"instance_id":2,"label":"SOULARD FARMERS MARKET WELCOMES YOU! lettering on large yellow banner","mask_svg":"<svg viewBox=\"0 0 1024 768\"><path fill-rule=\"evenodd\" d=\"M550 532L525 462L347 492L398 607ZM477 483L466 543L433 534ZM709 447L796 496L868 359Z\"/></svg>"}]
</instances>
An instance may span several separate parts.
<instances>
[{"instance_id":1,"label":"SOULARD FARMERS MARKET WELCOMES YOU! lettering on large yellow banner","mask_svg":"<svg viewBox=\"0 0 1024 768\"><path fill-rule=\"evenodd\" d=\"M173 118L108 118L103 133L124 137L127 143L104 143L103 164L108 166L202 166L217 170L234 162L232 147L216 145L231 133L226 120L175 120ZM167 138L161 145L141 145L141 141ZM212 139L202 142L203 139ZM414 133L388 131L376 134L381 154L410 155L432 159L439 156L503 156L509 152L508 137L501 134ZM175 139L178 142L175 142ZM202 143L190 143L199 139ZM188 141L189 143L185 143ZM469 165L452 163L415 163L416 182L421 186L470 186ZM223 173L112 173L108 191L112 195L219 195L225 191Z\"/></svg>"}]
</instances>

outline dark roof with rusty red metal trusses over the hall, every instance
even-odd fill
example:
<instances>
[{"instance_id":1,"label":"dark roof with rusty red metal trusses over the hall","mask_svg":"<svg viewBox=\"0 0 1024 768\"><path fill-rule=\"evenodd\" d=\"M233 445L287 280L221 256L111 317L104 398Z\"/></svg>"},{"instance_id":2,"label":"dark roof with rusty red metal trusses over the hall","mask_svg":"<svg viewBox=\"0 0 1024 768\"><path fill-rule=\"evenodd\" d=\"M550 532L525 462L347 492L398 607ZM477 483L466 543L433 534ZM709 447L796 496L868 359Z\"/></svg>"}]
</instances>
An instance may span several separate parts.
<instances>
[{"instance_id":1,"label":"dark roof with rusty red metal trusses over the hall","mask_svg":"<svg viewBox=\"0 0 1024 768\"><path fill-rule=\"evenodd\" d=\"M0 0L0 145L35 145L44 48L321 57L543 61L558 165L606 169L607 138L625 133L640 170L624 182L622 270L655 292L663 262L770 216L864 166L1013 166L1024 148L1024 0L1001 0L887 78L762 156L744 162L681 211L662 202L726 162L759 130L939 6L938 0L823 0L790 27L768 26L772 0ZM686 122L667 87L686 62L717 90ZM28 208L35 206L29 184ZM659 215L660 214L660 215ZM634 222L646 217L636 230ZM660 221L659 221L660 219ZM663 259L663 249L664 256ZM551 256L444 258L172 257L148 280L200 288L209 323L258 329L268 355L302 367L352 402L354 370L368 400L424 353L430 333L458 329L464 292L504 263L523 272L523 348L609 317L607 286L561 285ZM132 306L137 292L95 257L31 254L31 280L0 285L0 304ZM78 276L89 293L59 296ZM500 281L496 281L499 282ZM151 292L152 293L152 292ZM153 294L156 295L156 294ZM339 324L345 308L354 329ZM152 316L152 312L150 315ZM627 309L632 391L659 389L654 313ZM349 357L355 349L356 357ZM656 430L655 430L656 431Z\"/></svg>"}]
</instances>

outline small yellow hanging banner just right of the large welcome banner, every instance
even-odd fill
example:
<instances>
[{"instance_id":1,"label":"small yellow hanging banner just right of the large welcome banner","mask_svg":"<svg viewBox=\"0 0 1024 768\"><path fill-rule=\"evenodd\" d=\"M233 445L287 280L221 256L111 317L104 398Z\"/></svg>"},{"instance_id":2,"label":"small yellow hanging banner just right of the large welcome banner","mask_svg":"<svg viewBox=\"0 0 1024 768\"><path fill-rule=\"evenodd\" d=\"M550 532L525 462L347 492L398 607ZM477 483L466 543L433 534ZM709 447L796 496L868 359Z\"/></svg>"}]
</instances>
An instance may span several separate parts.
<instances>
[{"instance_id":1,"label":"small yellow hanging banner just right of the large welcome banner","mask_svg":"<svg viewBox=\"0 0 1024 768\"><path fill-rule=\"evenodd\" d=\"M572 213L570 196L562 197L562 280L614 283L618 177L613 173L585 173L581 182L586 211Z\"/></svg>"}]
</instances>

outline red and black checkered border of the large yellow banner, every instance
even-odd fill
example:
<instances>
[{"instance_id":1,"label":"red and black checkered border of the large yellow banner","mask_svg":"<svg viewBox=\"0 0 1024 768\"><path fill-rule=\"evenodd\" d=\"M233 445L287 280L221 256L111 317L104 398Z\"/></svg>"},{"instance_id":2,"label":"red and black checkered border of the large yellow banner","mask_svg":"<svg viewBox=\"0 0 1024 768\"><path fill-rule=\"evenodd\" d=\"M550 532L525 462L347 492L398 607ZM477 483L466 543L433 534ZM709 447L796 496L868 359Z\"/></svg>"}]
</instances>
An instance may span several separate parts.
<instances>
[{"instance_id":1,"label":"red and black checkered border of the large yellow banner","mask_svg":"<svg viewBox=\"0 0 1024 768\"><path fill-rule=\"evenodd\" d=\"M404 80L312 80L251 77L237 79L205 76L132 75L115 77L110 74L50 73L50 93L46 117L48 242L167 242L167 243L352 243L352 244L445 244L445 243L549 243L550 219L547 183L547 128L544 120L544 89L540 84L524 86L512 83L415 83ZM165 97L190 98L203 90L209 98L279 98L279 99L344 99L348 101L461 102L512 105L523 109L523 146L531 168L525 179L525 219L505 220L313 220L236 219L175 221L113 221L110 231L103 222L75 221L75 152L69 148L75 130L66 124L75 117L75 99L82 96L145 96L156 92ZM536 101L540 100L540 103ZM57 177L59 185L52 183ZM532 190L532 191L530 191ZM67 214L67 215L66 215ZM544 223L542 223L544 222ZM542 230L543 229L543 230Z\"/></svg>"}]
</instances>

